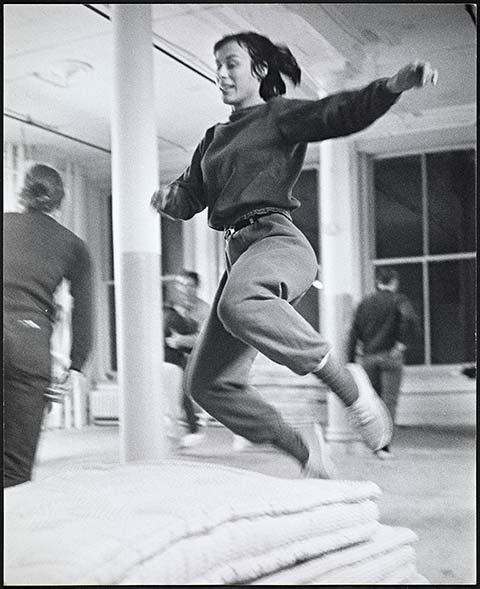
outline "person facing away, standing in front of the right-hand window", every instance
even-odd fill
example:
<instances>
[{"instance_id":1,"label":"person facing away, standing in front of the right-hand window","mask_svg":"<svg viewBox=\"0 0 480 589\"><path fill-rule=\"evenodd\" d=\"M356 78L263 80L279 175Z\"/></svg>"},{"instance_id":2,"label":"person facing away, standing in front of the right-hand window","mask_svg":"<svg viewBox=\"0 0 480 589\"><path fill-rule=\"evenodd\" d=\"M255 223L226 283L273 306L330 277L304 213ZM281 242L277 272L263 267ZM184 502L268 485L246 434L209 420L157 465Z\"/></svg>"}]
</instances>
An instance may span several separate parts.
<instances>
[{"instance_id":1,"label":"person facing away, standing in front of the right-hand window","mask_svg":"<svg viewBox=\"0 0 480 589\"><path fill-rule=\"evenodd\" d=\"M358 305L348 338L347 359L355 362L357 346L362 348L360 363L385 402L395 423L407 343L419 330L418 317L408 297L398 292L398 272L379 268L376 292ZM385 444L376 451L380 459L392 457Z\"/></svg>"}]
</instances>

